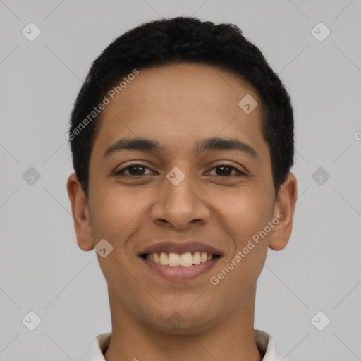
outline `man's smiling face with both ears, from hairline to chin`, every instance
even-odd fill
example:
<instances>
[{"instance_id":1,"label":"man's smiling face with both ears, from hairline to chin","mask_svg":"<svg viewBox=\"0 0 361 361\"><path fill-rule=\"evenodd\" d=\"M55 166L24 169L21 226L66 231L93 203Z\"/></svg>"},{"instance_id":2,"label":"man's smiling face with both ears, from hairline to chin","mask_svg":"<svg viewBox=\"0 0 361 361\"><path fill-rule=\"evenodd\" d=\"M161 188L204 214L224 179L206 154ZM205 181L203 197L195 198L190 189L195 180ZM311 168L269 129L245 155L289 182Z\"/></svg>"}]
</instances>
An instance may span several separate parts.
<instances>
[{"instance_id":1,"label":"man's smiling face with both ears, from hairline to chin","mask_svg":"<svg viewBox=\"0 0 361 361\"><path fill-rule=\"evenodd\" d=\"M246 95L258 104L251 112L238 105ZM97 257L118 310L177 333L209 328L247 306L267 248L287 243L295 201L294 178L274 199L260 118L247 82L185 63L140 70L106 106L89 198L74 175L68 193L82 250L104 239L113 247ZM124 149L121 138L160 147ZM235 142L227 149L220 140Z\"/></svg>"}]
</instances>

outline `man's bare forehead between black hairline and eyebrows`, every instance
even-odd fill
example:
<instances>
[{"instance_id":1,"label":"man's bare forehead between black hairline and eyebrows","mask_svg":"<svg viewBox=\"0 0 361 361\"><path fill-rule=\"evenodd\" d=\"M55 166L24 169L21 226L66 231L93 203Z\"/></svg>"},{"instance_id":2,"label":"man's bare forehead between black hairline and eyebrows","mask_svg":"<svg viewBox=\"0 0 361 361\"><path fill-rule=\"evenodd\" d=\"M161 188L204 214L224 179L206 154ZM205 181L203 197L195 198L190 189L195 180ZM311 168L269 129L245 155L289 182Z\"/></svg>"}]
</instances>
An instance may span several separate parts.
<instances>
[{"instance_id":1,"label":"man's bare forehead between black hairline and eyebrows","mask_svg":"<svg viewBox=\"0 0 361 361\"><path fill-rule=\"evenodd\" d=\"M259 104L250 114L238 105L245 96ZM192 152L205 137L238 137L259 152L265 147L257 92L215 66L180 63L141 69L110 100L93 147L97 154L121 137L157 139L169 154Z\"/></svg>"}]
</instances>

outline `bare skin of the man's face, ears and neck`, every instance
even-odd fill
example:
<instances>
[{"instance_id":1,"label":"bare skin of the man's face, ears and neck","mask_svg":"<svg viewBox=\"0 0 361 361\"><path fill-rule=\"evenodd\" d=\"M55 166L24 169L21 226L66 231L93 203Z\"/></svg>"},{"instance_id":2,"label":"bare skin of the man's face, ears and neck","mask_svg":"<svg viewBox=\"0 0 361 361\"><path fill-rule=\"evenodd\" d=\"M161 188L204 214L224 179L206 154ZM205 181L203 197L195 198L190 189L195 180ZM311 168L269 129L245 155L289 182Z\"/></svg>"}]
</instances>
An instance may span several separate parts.
<instances>
[{"instance_id":1,"label":"bare skin of the man's face, ears and neck","mask_svg":"<svg viewBox=\"0 0 361 361\"><path fill-rule=\"evenodd\" d=\"M250 114L238 106L246 94L258 103ZM288 243L297 181L288 173L275 200L260 104L257 92L233 73L181 63L140 70L102 112L90 158L89 198L75 173L67 190L80 249L93 250L104 238L114 247L105 258L97 255L111 308L106 361L262 360L253 326L256 282L267 249L282 250ZM195 157L193 145L215 136L246 142L259 161L229 150ZM105 149L121 137L152 138L164 144L164 152L123 151L102 159ZM112 174L132 161L147 167L133 169L140 176ZM222 161L247 176L234 170L220 176L222 169L217 173L214 167ZM179 185L166 178L175 166L185 174ZM211 276L279 213L283 219L212 285ZM190 238L224 255L196 279L167 281L137 257L147 245ZM184 322L178 329L167 322L175 312Z\"/></svg>"}]
</instances>

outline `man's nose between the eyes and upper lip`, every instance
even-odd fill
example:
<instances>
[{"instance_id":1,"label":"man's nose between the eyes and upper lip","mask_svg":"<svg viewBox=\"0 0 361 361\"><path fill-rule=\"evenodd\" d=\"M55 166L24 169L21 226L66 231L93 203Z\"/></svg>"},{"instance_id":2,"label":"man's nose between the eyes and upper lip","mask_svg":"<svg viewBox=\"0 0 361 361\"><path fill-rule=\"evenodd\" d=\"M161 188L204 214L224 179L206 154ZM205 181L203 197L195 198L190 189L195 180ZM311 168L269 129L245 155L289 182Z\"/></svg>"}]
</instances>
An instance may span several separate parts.
<instances>
[{"instance_id":1,"label":"man's nose between the eyes and upper lip","mask_svg":"<svg viewBox=\"0 0 361 361\"><path fill-rule=\"evenodd\" d=\"M164 190L151 208L151 219L155 224L169 228L185 229L190 224L205 224L211 212L204 203L202 186L195 178L185 175L178 185L164 179Z\"/></svg>"}]
</instances>

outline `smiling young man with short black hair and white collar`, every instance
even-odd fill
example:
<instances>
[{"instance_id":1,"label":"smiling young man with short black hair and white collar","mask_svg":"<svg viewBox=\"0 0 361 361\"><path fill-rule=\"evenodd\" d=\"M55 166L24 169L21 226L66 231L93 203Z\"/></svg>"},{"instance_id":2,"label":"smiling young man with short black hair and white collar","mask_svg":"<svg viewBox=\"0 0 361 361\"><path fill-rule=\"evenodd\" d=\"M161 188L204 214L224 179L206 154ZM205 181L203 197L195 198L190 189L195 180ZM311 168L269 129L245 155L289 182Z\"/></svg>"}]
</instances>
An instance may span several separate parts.
<instances>
[{"instance_id":1,"label":"smiling young man with short black hair and white collar","mask_svg":"<svg viewBox=\"0 0 361 361\"><path fill-rule=\"evenodd\" d=\"M240 29L126 32L92 63L67 137L78 246L95 247L111 309L89 360L281 360L254 312L267 249L292 231L293 109Z\"/></svg>"}]
</instances>

